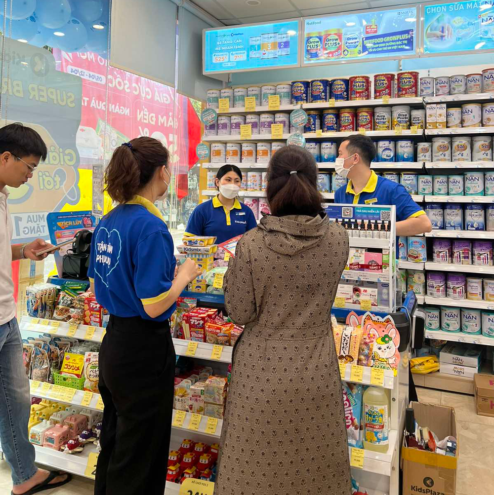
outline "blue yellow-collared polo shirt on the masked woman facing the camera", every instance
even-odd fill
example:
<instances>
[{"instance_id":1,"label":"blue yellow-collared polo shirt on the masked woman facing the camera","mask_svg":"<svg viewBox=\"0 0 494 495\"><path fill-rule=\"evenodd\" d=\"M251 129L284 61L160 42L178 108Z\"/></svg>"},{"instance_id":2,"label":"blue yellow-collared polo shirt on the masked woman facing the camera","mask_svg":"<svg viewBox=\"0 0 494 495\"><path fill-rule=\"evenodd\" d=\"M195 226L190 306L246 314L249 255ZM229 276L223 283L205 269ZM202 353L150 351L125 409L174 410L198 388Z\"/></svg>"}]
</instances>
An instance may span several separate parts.
<instances>
[{"instance_id":1,"label":"blue yellow-collared polo shirt on the masked woman facing the camera","mask_svg":"<svg viewBox=\"0 0 494 495\"><path fill-rule=\"evenodd\" d=\"M248 206L235 199L232 208L228 209L215 196L196 206L190 215L185 235L216 236L217 244L221 244L254 227L257 227L256 217Z\"/></svg>"}]
</instances>

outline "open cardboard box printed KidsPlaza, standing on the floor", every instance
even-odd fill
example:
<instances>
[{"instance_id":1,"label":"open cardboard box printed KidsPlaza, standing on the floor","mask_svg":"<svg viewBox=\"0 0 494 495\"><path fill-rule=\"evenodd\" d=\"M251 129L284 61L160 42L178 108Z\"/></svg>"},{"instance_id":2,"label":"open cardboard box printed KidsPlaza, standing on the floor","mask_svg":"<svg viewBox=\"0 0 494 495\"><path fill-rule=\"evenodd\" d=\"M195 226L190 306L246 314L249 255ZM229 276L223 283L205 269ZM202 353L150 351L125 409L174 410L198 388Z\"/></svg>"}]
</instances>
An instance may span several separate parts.
<instances>
[{"instance_id":1,"label":"open cardboard box printed KidsPlaza, standing on the floor","mask_svg":"<svg viewBox=\"0 0 494 495\"><path fill-rule=\"evenodd\" d=\"M410 402L415 420L428 427L439 438L451 435L457 440L456 456L436 454L418 448L402 446L403 495L455 495L456 464L459 443L456 434L456 415L452 407Z\"/></svg>"}]
</instances>

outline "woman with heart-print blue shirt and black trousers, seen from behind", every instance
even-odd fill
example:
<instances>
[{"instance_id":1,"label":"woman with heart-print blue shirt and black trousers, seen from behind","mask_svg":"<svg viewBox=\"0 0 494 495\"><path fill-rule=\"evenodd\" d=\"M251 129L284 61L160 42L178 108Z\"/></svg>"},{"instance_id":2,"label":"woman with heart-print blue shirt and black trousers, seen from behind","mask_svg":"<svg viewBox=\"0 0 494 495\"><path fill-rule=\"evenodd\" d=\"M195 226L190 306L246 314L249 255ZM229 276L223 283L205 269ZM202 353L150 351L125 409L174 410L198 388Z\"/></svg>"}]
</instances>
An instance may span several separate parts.
<instances>
[{"instance_id":1,"label":"woman with heart-print blue shirt and black trousers, seen from behind","mask_svg":"<svg viewBox=\"0 0 494 495\"><path fill-rule=\"evenodd\" d=\"M96 227L89 277L110 313L99 355L105 410L95 495L163 495L173 411L175 350L168 318L199 274L178 270L173 241L154 202L168 191L168 150L153 138L116 148L105 182L119 203Z\"/></svg>"}]
</instances>

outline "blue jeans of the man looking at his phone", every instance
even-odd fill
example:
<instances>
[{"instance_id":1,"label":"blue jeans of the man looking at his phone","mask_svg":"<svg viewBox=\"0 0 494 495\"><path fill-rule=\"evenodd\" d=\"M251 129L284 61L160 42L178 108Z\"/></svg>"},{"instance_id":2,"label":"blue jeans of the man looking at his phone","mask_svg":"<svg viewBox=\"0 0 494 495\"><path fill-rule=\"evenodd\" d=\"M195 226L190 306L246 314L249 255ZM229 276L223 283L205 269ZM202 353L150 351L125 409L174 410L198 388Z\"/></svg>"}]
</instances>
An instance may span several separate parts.
<instances>
[{"instance_id":1,"label":"blue jeans of the man looking at his phone","mask_svg":"<svg viewBox=\"0 0 494 495\"><path fill-rule=\"evenodd\" d=\"M0 325L0 443L14 485L32 478L35 450L27 423L31 409L29 380L22 362L22 340L15 318Z\"/></svg>"}]
</instances>

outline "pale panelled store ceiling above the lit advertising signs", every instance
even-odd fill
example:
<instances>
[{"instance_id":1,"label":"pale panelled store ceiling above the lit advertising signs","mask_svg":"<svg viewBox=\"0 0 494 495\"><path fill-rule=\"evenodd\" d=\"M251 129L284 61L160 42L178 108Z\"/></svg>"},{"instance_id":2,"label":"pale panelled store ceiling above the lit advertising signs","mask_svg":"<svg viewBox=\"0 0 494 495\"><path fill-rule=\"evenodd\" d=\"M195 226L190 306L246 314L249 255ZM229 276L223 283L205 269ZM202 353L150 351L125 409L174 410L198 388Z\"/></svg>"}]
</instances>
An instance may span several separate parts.
<instances>
[{"instance_id":1,"label":"pale panelled store ceiling above the lit advertising signs","mask_svg":"<svg viewBox=\"0 0 494 495\"><path fill-rule=\"evenodd\" d=\"M418 1L366 0L344 2L341 0L192 0L223 24L249 24L267 22L291 17L349 12L368 8L381 8L403 4L417 4Z\"/></svg>"}]
</instances>

